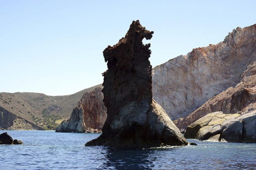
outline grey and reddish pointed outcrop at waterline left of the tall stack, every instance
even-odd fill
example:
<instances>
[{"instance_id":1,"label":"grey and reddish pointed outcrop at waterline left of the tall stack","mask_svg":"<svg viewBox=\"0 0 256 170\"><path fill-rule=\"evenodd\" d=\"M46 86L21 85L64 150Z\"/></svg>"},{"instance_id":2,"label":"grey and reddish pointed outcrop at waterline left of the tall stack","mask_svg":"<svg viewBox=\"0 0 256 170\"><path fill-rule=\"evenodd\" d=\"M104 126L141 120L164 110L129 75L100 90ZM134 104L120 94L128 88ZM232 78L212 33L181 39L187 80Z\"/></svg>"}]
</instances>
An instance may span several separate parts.
<instances>
[{"instance_id":1,"label":"grey and reddish pointed outcrop at waterline left of the tall stack","mask_svg":"<svg viewBox=\"0 0 256 170\"><path fill-rule=\"evenodd\" d=\"M69 120L64 120L56 132L101 132L107 119L107 109L103 104L101 90L102 88L97 87L91 92L84 93Z\"/></svg>"}]
</instances>

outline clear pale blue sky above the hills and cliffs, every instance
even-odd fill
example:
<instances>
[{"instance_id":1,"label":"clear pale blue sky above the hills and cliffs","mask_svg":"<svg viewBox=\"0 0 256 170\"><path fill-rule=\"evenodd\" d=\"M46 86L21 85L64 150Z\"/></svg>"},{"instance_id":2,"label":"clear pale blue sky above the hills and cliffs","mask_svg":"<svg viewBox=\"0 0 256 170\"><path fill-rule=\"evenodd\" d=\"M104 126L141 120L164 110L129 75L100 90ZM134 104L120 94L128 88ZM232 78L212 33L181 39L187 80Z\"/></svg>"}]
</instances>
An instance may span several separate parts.
<instances>
[{"instance_id":1,"label":"clear pale blue sky above the hills and cliffs","mask_svg":"<svg viewBox=\"0 0 256 170\"><path fill-rule=\"evenodd\" d=\"M0 92L68 95L103 82L102 51L133 20L152 66L256 23L256 1L0 0Z\"/></svg>"}]
</instances>

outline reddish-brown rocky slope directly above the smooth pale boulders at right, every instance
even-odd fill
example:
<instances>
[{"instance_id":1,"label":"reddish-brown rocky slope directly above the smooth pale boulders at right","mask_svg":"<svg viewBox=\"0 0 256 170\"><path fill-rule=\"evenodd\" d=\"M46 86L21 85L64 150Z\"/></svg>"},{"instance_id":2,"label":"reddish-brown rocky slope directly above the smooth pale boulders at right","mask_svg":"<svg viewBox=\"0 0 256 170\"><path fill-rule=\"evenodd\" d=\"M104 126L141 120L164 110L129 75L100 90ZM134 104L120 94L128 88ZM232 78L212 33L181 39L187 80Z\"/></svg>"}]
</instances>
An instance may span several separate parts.
<instances>
[{"instance_id":1,"label":"reddish-brown rocky slope directly above the smooth pale boulders at right","mask_svg":"<svg viewBox=\"0 0 256 170\"><path fill-rule=\"evenodd\" d=\"M256 55L256 47L255 47ZM246 114L256 110L256 62L247 67L241 76L241 81L234 87L221 92L208 100L205 104L185 118L180 118L174 123L179 128L186 128L196 120L208 113L222 111L224 114Z\"/></svg>"}]
</instances>

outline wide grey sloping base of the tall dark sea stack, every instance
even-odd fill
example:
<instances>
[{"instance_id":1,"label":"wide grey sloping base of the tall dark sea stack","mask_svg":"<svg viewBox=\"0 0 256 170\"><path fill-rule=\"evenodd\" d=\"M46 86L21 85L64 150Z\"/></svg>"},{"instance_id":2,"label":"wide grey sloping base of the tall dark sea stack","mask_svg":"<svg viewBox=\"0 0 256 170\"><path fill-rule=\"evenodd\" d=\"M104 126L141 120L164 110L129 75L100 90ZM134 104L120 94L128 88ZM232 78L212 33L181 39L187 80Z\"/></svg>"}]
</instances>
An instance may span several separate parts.
<instances>
[{"instance_id":1,"label":"wide grey sloping base of the tall dark sea stack","mask_svg":"<svg viewBox=\"0 0 256 170\"><path fill-rule=\"evenodd\" d=\"M127 115L120 128L112 133L100 135L85 146L105 145L115 147L159 147L167 145L187 145L188 142L174 125L162 107L154 100L142 114ZM131 120L131 121L130 121ZM104 130L104 129L103 129Z\"/></svg>"}]
</instances>

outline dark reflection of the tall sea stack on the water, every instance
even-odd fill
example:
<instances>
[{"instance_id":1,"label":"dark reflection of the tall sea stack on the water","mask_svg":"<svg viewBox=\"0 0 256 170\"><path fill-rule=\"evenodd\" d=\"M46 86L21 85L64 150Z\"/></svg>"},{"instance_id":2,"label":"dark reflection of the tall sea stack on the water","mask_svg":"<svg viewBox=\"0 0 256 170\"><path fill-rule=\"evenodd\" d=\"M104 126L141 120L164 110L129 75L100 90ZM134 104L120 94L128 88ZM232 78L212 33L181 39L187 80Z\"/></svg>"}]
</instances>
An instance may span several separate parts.
<instances>
[{"instance_id":1,"label":"dark reflection of the tall sea stack on the water","mask_svg":"<svg viewBox=\"0 0 256 170\"><path fill-rule=\"evenodd\" d=\"M106 169L145 169L151 170L154 167L154 150L147 149L114 149L107 148L106 162L102 168Z\"/></svg>"}]
</instances>

